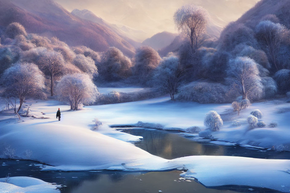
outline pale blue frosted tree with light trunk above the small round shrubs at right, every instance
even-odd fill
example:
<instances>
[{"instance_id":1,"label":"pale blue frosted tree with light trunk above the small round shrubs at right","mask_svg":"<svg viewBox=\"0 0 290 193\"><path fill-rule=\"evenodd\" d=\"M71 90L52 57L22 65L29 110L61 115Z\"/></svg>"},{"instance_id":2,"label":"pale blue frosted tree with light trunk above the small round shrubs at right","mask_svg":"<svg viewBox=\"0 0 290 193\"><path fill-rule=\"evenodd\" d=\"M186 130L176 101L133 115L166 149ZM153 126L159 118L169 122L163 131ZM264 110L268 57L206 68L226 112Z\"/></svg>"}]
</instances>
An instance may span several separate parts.
<instances>
[{"instance_id":1,"label":"pale blue frosted tree with light trunk above the small round shrubs at right","mask_svg":"<svg viewBox=\"0 0 290 193\"><path fill-rule=\"evenodd\" d=\"M228 80L240 94L242 99L248 99L249 96L260 96L263 86L259 77L257 64L249 57L237 57L229 62L227 71Z\"/></svg>"}]
</instances>

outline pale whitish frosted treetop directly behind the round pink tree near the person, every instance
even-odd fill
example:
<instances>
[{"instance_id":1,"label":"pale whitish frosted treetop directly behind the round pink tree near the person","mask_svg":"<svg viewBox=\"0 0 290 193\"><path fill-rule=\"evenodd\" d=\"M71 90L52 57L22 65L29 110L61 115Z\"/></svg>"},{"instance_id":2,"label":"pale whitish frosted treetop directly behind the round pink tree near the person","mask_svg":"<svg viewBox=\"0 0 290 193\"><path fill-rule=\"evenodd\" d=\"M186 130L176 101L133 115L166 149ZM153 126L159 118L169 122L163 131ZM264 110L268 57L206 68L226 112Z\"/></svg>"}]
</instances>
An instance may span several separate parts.
<instances>
[{"instance_id":1,"label":"pale whitish frosted treetop directly behind the round pink tree near the person","mask_svg":"<svg viewBox=\"0 0 290 193\"><path fill-rule=\"evenodd\" d=\"M76 65L81 71L88 74L91 78L98 75L98 69L91 57L85 57L82 54L76 55L72 63Z\"/></svg>"}]
</instances>

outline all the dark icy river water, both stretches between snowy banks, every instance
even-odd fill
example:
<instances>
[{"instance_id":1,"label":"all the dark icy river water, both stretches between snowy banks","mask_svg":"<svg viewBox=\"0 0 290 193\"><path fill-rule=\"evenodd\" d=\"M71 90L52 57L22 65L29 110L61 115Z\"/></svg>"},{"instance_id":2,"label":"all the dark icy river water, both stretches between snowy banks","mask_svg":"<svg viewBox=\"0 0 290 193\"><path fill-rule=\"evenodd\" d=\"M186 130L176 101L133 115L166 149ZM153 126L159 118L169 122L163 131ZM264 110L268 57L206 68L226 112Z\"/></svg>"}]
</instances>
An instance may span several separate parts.
<instances>
[{"instance_id":1,"label":"all the dark icy river water, both stretches between snowy banks","mask_svg":"<svg viewBox=\"0 0 290 193\"><path fill-rule=\"evenodd\" d=\"M143 136L135 143L137 147L166 159L191 155L226 155L264 159L290 159L290 152L266 151L236 146L221 146L208 142L197 142L185 133L145 128L124 128L123 132ZM85 159L85 158L84 158ZM8 166L2 166L5 162ZM231 193L231 192L277 192L269 189L242 186L208 187L193 180L179 179L180 171L167 172L49 172L40 171L37 162L0 159L0 178L30 176L46 182L55 182L62 187L62 193L136 193L158 192L184 193ZM249 190L251 189L251 191Z\"/></svg>"}]
</instances>

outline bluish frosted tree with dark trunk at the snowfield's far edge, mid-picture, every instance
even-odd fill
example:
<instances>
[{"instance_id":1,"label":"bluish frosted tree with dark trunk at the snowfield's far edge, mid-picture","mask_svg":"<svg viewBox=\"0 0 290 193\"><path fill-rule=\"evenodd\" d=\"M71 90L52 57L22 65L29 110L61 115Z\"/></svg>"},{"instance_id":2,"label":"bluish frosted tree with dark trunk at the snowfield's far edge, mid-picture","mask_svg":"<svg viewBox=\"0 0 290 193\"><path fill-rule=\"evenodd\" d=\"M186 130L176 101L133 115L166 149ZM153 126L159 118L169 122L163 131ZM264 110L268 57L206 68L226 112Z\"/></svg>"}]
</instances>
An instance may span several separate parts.
<instances>
[{"instance_id":1,"label":"bluish frosted tree with dark trunk at the snowfield's far edge, mid-picture","mask_svg":"<svg viewBox=\"0 0 290 193\"><path fill-rule=\"evenodd\" d=\"M177 87L181 84L184 70L176 56L164 57L156 68L154 81L159 90L170 94L171 100L175 100L174 95Z\"/></svg>"}]
</instances>

